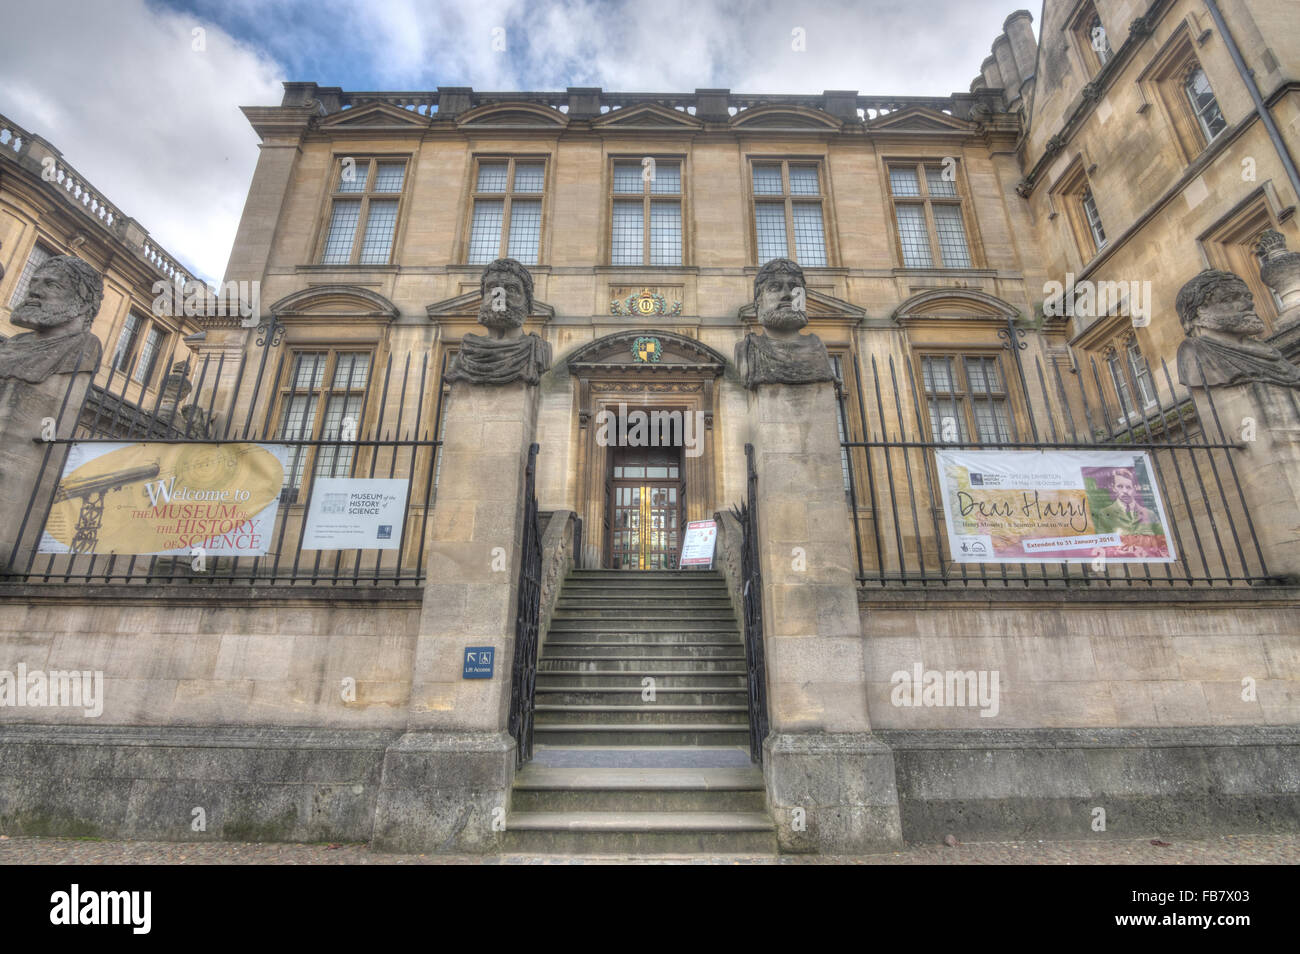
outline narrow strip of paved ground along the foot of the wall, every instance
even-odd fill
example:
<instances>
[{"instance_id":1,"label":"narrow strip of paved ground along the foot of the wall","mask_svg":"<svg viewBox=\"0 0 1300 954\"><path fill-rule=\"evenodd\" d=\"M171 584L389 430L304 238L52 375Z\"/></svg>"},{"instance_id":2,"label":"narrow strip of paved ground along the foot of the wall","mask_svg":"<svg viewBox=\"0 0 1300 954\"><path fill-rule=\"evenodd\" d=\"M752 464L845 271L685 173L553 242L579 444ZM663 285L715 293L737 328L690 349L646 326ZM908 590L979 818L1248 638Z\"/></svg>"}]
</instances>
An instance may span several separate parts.
<instances>
[{"instance_id":1,"label":"narrow strip of paved ground along the foot of the wall","mask_svg":"<svg viewBox=\"0 0 1300 954\"><path fill-rule=\"evenodd\" d=\"M170 844L0 836L0 864L1300 864L1300 834L1011 841L913 846L854 858L771 855L389 855L365 845Z\"/></svg>"}]
</instances>

